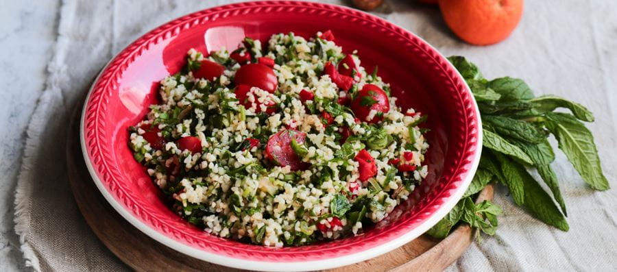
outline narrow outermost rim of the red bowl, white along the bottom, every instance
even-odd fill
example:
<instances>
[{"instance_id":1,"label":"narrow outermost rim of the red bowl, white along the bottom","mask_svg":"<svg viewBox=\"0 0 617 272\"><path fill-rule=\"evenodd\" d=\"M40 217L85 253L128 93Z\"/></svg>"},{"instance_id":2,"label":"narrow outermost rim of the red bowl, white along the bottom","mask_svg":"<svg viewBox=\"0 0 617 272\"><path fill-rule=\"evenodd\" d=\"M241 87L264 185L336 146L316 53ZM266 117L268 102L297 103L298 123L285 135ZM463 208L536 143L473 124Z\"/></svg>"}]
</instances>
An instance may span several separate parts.
<instances>
[{"instance_id":1,"label":"narrow outermost rim of the red bowl, white along the bottom","mask_svg":"<svg viewBox=\"0 0 617 272\"><path fill-rule=\"evenodd\" d=\"M403 29L402 27L399 27L398 25L394 25L394 23L390 23L389 21L386 21L383 18L379 18L378 16L374 16L372 14L361 12L359 10L354 10L352 8L344 7L341 5L333 5L329 3L315 3L315 2L307 2L307 1L250 1L250 2L243 2L243 3L232 3L228 5L218 5L213 8L207 8L204 10L199 10L197 12L186 14L184 16L180 16L179 18L175 18L167 23L164 23L150 30L146 34L143 34L142 36L134 40L134 42L132 42L130 45L125 47L123 50L119 51L119 53L114 55L114 57L111 58L109 62L107 62L104 68L101 69L101 71L99 72L95 80L93 81L92 86L90 86L90 89L88 90L88 95L86 96L86 100L84 102L85 105L83 107L82 115L80 118L80 142L81 142L80 144L82 147L82 155L84 156L84 161L86 163L88 172L90 173L90 176L93 178L93 181L95 182L97 188L99 188L99 191L101 192L101 194L108 201L108 203L110 203L110 205L114 208L114 210L119 212L119 214L121 214L121 216L126 221L131 223L134 227L136 227L141 232L145 233L150 238L153 238L154 240L156 240L158 243L162 243L163 245L167 247L171 247L172 249L179 251L182 254L191 256L193 258L197 258L197 259L204 260L206 262L211 262L214 264L221 264L226 267L234 267L238 269L251 269L251 270L258 270L258 271L306 271L306 270L321 270L321 269L332 269L335 267L343 267L348 264L354 264L356 262L361 262L363 260L367 260L370 258L374 258L376 256L380 256L382 254L385 254L388 251L394 250L406 243L409 243L409 241L413 240L414 238L417 238L421 234L424 234L424 232L426 232L428 229L433 227L433 225L435 225L439 220L441 220L441 218L445 217L446 214L450 212L452 208L454 208L454 206L459 201L459 199L461 199L461 197L463 196L463 193L465 193L465 190L468 188L469 184L471 183L472 178L474 177L474 174L476 172L476 169L480 161L480 155L482 151L483 133L481 129L482 125L481 125L479 108L477 106L477 103L474 99L474 96L472 95L472 92L468 84L465 82L462 75L459 73L459 71L457 71L457 69L454 68L454 66L452 66L452 64L450 64L450 62L447 62L447 61L446 61L447 62L446 66L448 66L449 68L448 70L451 70L448 72L452 73L454 77L458 77L460 79L459 83L462 85L462 88L465 90L465 92L468 92L469 97L470 97L470 103L473 106L472 110L474 111L474 116L476 117L474 120L476 121L476 127L477 127L476 132L474 134L474 136L476 137L476 142L468 148L471 154L468 156L465 156L465 158L472 158L472 159L467 164L468 165L467 171L462 171L461 173L457 173L457 176L459 177L463 175L461 179L461 184L459 184L457 188L452 189L454 192L449 197L445 197L444 203L441 203L434 212L428 215L428 219L424 220L424 222L420 223L420 225L416 226L412 230L409 230L409 232L406 232L394 239L386 241L385 243L377 244L374 247L364 249L363 251L356 251L350 254L337 256L335 258L322 258L319 260L271 262L271 261L249 260L249 259L242 259L242 258L234 258L230 256L223 256L220 254L215 254L212 252L197 249L195 247L192 247L191 245L186 245L184 243L181 243L178 240L174 240L173 238L160 233L158 230L155 230L153 227L147 225L146 223L138 219L136 216L134 216L129 210L123 207L120 201L115 199L112 193L110 193L110 191L105 187L104 182L102 182L102 180L97 175L97 171L95 171L93 162L90 156L88 155L88 147L86 145L85 129L86 129L86 114L88 112L88 101L90 101L90 96L93 94L93 90L95 89L95 86L97 86L97 83L99 82L99 79L101 78L101 75L104 75L104 73L108 71L110 64L114 62L114 60L117 60L117 58L119 58L123 54L124 51L132 47L132 45L135 45L140 40L145 39L147 36L149 36L153 32L156 32L159 29L170 27L171 23L178 22L177 24L180 24L183 21L189 20L189 18L191 18L191 16L195 14L201 14L203 12L208 12L210 10L226 10L230 8L242 8L245 6L256 6L256 5L266 5L266 4L268 5L276 4L276 5L281 5L285 7L295 7L295 8L303 8L303 7L310 8L310 7L318 6L319 8L330 10L330 11L335 11L335 10L340 11L341 9L343 9L346 12L350 12L350 14L356 14L356 15L361 15L364 17L372 18L372 20L374 21L378 21L379 23L387 25L388 27L391 27L415 39L418 39L420 40L420 43L423 43L426 47L428 47L428 50L431 51L431 53L435 53L435 55L437 55L438 58L442 58L444 60L446 59L444 55L442 55L439 51L437 51L437 49L435 49L432 45L428 44L428 42L426 42L424 39L420 38L419 36L416 36L415 34L407 31L407 29ZM458 166L457 168L461 168L461 167L462 166ZM450 177L450 179L452 178L454 177ZM307 267L310 267L310 269L306 269Z\"/></svg>"}]
</instances>

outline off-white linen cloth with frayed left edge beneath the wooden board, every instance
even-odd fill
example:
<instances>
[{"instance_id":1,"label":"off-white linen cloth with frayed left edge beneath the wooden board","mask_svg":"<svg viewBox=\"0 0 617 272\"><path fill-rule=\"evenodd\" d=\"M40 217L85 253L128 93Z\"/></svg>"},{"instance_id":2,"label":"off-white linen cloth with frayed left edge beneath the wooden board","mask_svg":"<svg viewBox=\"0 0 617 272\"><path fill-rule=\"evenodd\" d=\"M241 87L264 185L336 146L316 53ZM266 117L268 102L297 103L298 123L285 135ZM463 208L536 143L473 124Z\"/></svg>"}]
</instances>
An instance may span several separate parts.
<instances>
[{"instance_id":1,"label":"off-white linen cloth with frayed left edge beneath the wooden board","mask_svg":"<svg viewBox=\"0 0 617 272\"><path fill-rule=\"evenodd\" d=\"M29 267L128 270L97 240L73 201L64 163L69 114L99 69L132 40L178 16L228 2L63 1L47 86L27 129L16 189L16 232ZM387 0L374 14L418 34L444 55L465 55L488 78L520 77L537 95L553 93L588 106L596 116L588 127L605 175L617 187L615 11L614 0L526 1L518 29L489 47L458 40L430 5ZM504 214L496 236L472 244L448 271L617 270L617 188L590 190L560 151L553 166L570 232L533 219L498 188L495 202Z\"/></svg>"}]
</instances>

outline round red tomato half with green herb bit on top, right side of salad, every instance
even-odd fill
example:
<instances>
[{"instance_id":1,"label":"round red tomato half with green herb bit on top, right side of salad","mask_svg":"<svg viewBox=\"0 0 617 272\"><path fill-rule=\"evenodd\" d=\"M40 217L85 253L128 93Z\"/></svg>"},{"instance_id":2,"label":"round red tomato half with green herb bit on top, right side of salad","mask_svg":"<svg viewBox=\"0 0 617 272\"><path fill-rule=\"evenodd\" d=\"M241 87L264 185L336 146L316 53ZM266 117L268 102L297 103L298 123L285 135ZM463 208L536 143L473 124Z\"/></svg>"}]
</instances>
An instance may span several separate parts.
<instances>
[{"instance_id":1,"label":"round red tomato half with green herb bit on top, right side of salad","mask_svg":"<svg viewBox=\"0 0 617 272\"><path fill-rule=\"evenodd\" d=\"M372 93L371 93L372 92ZM362 97L372 97L375 100L375 103L371 106L363 106L361 101ZM371 112L371 110L376 110L377 112L386 113L390 110L390 102L388 100L388 96L386 93L373 84L366 84L362 90L358 92L356 95L356 99L352 101L351 108L354 111L354 114L360 121L365 121L368 123L377 123L383 119L381 116L374 116L371 120L367 121L366 118Z\"/></svg>"}]
</instances>

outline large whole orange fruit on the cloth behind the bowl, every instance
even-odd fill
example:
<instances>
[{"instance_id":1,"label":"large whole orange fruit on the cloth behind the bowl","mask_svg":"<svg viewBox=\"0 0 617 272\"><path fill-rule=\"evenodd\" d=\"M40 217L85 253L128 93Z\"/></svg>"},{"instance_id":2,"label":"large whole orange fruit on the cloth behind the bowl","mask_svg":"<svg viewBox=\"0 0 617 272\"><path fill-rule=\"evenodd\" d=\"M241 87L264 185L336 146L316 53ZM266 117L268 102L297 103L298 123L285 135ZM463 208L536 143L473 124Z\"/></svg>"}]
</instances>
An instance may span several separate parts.
<instances>
[{"instance_id":1,"label":"large whole orange fruit on the cloth behind the bowl","mask_svg":"<svg viewBox=\"0 0 617 272\"><path fill-rule=\"evenodd\" d=\"M472 45L492 45L518 25L523 0L439 0L452 32Z\"/></svg>"}]
</instances>

